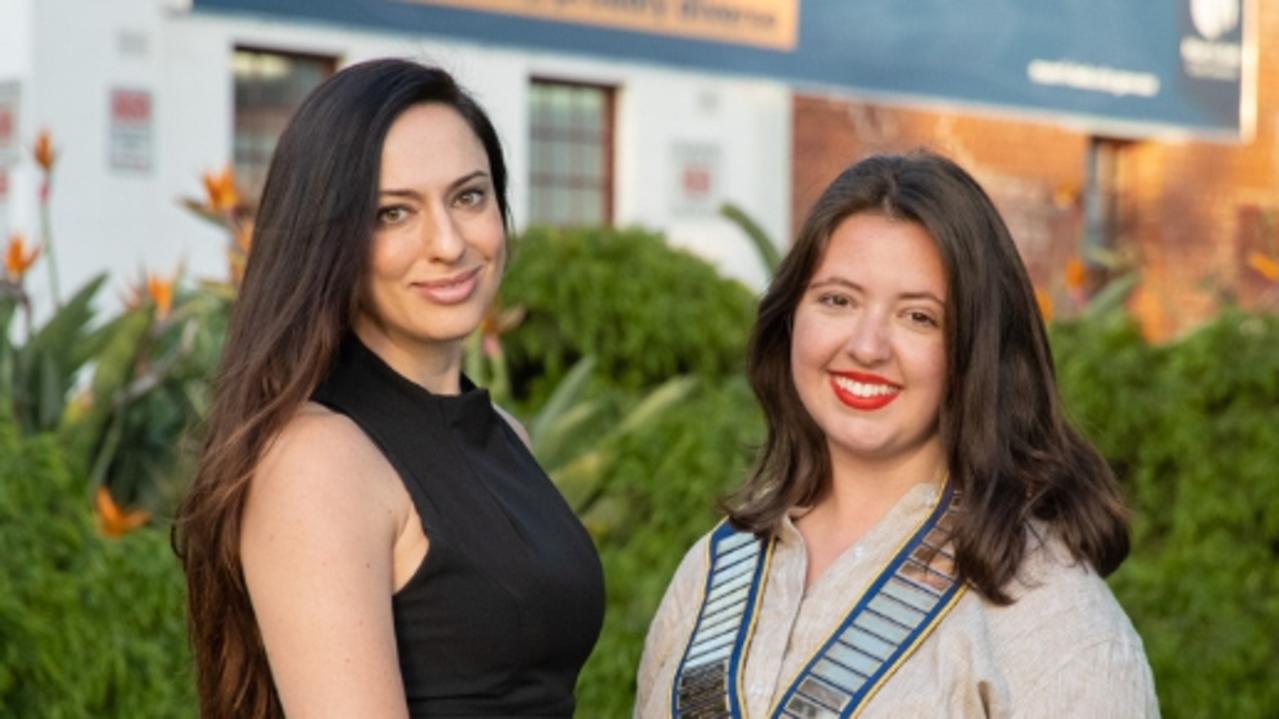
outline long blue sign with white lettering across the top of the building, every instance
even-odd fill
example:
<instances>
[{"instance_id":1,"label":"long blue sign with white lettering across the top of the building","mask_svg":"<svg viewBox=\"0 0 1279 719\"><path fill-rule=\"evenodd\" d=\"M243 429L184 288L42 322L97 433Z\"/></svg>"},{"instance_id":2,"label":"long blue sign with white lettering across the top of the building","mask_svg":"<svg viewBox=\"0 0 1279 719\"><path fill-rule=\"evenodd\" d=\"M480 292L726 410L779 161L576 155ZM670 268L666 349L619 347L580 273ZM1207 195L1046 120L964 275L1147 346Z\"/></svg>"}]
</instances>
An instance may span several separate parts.
<instances>
[{"instance_id":1,"label":"long blue sign with white lettering across the top of the building","mask_svg":"<svg viewBox=\"0 0 1279 719\"><path fill-rule=\"evenodd\" d=\"M194 0L194 8L698 68L875 101L1012 110L1051 122L1064 118L1095 134L1237 139L1251 132L1255 63L1248 59L1256 49L1248 28L1255 0L784 1L798 3L798 37L789 49L551 20L545 12L535 18L460 9L434 0ZM711 13L734 5L733 0L528 3L606 5L613 14L627 6Z\"/></svg>"}]
</instances>

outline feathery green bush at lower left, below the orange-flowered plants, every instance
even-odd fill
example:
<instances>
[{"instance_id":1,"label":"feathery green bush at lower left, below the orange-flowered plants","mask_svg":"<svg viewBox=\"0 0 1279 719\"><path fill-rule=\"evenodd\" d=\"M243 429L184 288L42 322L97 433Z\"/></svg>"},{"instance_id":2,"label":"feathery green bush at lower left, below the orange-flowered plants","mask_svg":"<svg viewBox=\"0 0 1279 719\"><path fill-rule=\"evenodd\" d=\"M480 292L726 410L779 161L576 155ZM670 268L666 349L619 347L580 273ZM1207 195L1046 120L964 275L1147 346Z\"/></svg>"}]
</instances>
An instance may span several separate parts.
<instances>
[{"instance_id":1,"label":"feathery green bush at lower left, below the orange-flowered plants","mask_svg":"<svg viewBox=\"0 0 1279 719\"><path fill-rule=\"evenodd\" d=\"M193 715L169 537L102 537L91 508L51 436L0 420L0 716Z\"/></svg>"}]
</instances>

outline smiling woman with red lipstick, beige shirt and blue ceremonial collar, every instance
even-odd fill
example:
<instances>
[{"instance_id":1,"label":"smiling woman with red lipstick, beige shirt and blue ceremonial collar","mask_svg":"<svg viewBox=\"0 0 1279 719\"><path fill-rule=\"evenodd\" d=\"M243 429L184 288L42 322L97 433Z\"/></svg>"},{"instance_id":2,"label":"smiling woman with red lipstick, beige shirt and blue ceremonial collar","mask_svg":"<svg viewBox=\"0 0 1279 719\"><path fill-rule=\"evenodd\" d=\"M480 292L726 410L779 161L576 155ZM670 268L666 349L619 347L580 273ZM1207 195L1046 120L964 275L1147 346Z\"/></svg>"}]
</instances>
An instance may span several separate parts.
<instances>
[{"instance_id":1,"label":"smiling woman with red lipstick, beige shirt and blue ceremonial collar","mask_svg":"<svg viewBox=\"0 0 1279 719\"><path fill-rule=\"evenodd\" d=\"M927 152L826 188L760 302L767 439L654 618L636 716L1151 716L1128 553L999 212Z\"/></svg>"}]
</instances>

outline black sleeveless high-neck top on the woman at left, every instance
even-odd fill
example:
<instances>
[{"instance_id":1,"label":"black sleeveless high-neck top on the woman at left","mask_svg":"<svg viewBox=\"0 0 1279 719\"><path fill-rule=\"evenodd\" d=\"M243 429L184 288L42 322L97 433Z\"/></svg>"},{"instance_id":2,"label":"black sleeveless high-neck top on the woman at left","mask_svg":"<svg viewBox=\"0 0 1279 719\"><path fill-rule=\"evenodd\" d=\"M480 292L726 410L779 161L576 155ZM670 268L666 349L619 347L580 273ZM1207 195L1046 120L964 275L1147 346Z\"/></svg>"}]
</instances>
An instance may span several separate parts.
<instances>
[{"instance_id":1,"label":"black sleeveless high-neck top on the woman at left","mask_svg":"<svg viewBox=\"0 0 1279 719\"><path fill-rule=\"evenodd\" d=\"M350 417L399 472L430 540L395 592L417 716L572 716L604 618L591 537L466 377L431 394L354 336L312 399Z\"/></svg>"}]
</instances>

